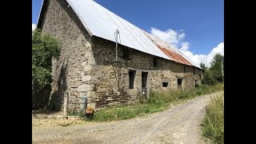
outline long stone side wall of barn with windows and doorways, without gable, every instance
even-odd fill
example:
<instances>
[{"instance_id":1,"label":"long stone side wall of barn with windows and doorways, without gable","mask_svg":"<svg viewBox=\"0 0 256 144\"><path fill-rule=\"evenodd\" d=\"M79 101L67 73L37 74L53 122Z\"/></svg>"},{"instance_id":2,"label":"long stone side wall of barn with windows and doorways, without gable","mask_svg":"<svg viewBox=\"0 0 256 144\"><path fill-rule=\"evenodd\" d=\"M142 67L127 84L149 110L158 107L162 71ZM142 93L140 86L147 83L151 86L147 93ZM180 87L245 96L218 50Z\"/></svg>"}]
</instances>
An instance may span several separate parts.
<instances>
[{"instance_id":1,"label":"long stone side wall of barn with windows and doorways, without gable","mask_svg":"<svg viewBox=\"0 0 256 144\"><path fill-rule=\"evenodd\" d=\"M94 78L96 90L96 106L104 107L119 103L137 102L142 95L142 72L147 72L147 98L150 90L177 90L178 78L182 78L182 89L194 88L195 80L201 84L201 70L193 66L184 66L164 58L158 58L158 66L154 67L151 54L118 45L118 49L130 50L130 60L119 58L115 60L115 43L102 38L93 37L93 52L95 67L91 77ZM136 70L134 89L129 89L129 70ZM97 79L97 80L96 80ZM167 87L162 87L162 82L168 82Z\"/></svg>"}]
</instances>

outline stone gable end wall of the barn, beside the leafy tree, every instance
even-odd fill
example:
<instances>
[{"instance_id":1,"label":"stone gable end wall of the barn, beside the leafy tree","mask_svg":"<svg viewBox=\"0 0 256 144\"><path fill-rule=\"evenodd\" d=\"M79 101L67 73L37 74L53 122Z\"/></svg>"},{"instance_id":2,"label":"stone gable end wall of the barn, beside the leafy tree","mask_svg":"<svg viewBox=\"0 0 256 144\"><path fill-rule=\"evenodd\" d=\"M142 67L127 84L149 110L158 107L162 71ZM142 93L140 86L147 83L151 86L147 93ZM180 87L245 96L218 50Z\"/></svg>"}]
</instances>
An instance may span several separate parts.
<instances>
[{"instance_id":1,"label":"stone gable end wall of the barn, beside the leafy tree","mask_svg":"<svg viewBox=\"0 0 256 144\"><path fill-rule=\"evenodd\" d=\"M42 19L42 33L54 35L62 46L60 58L53 60L50 109L61 110L67 96L70 109L81 109L82 96L94 88L86 81L94 61L91 37L65 0L48 2Z\"/></svg>"}]
</instances>

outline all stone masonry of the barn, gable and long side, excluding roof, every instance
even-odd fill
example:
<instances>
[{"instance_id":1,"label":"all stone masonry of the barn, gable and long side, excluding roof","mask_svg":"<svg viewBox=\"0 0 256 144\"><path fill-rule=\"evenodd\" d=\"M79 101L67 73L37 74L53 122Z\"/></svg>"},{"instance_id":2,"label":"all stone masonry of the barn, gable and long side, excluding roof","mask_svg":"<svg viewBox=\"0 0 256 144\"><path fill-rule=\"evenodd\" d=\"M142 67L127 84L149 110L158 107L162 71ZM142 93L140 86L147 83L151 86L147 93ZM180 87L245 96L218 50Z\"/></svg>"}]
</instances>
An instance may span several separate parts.
<instances>
[{"instance_id":1,"label":"all stone masonry of the barn, gable and long side, excluding roof","mask_svg":"<svg viewBox=\"0 0 256 144\"><path fill-rule=\"evenodd\" d=\"M38 26L42 33L58 38L62 46L60 58L53 59L52 67L50 106L55 109L62 110L64 98L72 110L84 108L84 97L96 108L138 102L142 96L142 72L147 72L147 98L150 90L177 90L178 78L182 79L184 90L193 88L195 80L201 84L202 70L163 58L157 58L158 66L153 66L153 55L126 46L118 45L118 49L128 50L132 57L119 57L114 62L114 42L91 37L65 0L46 2ZM129 89L129 70L135 71L133 89ZM162 82L168 86L163 87Z\"/></svg>"}]
</instances>

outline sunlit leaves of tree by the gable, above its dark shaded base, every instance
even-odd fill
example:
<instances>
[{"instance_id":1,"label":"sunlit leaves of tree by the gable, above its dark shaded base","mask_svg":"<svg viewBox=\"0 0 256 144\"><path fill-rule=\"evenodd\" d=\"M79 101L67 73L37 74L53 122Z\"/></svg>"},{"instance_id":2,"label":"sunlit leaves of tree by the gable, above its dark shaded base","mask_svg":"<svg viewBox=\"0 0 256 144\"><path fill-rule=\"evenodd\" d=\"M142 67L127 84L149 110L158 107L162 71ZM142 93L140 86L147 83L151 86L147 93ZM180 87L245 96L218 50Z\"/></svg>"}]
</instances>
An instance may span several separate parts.
<instances>
[{"instance_id":1,"label":"sunlit leaves of tree by the gable, above its dark shaded base","mask_svg":"<svg viewBox=\"0 0 256 144\"><path fill-rule=\"evenodd\" d=\"M57 39L41 30L32 32L32 78L38 86L49 86L51 82L51 60L58 58L60 46Z\"/></svg>"}]
</instances>

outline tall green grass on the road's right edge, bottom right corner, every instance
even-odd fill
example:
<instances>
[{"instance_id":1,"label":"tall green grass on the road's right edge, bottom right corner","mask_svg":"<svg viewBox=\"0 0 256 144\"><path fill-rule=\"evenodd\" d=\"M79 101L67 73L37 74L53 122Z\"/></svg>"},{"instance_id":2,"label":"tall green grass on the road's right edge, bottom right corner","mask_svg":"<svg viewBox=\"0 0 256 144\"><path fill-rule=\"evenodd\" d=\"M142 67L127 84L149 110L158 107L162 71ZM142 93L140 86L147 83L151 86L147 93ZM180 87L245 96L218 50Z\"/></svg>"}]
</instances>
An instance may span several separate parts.
<instances>
[{"instance_id":1,"label":"tall green grass on the road's right edge, bottom right corner","mask_svg":"<svg viewBox=\"0 0 256 144\"><path fill-rule=\"evenodd\" d=\"M212 143L224 143L224 94L212 98L202 121L203 136Z\"/></svg>"}]
</instances>

